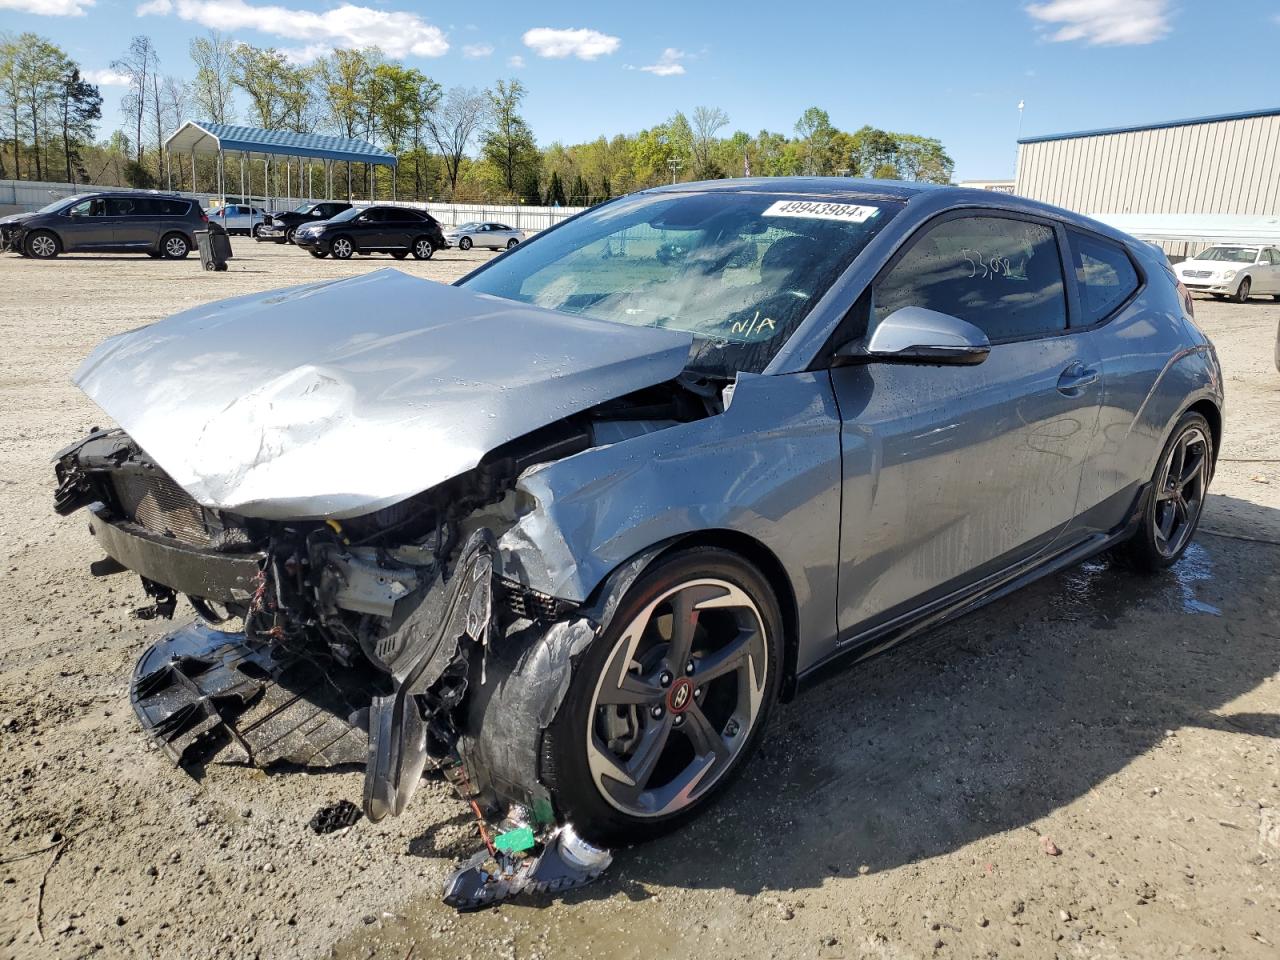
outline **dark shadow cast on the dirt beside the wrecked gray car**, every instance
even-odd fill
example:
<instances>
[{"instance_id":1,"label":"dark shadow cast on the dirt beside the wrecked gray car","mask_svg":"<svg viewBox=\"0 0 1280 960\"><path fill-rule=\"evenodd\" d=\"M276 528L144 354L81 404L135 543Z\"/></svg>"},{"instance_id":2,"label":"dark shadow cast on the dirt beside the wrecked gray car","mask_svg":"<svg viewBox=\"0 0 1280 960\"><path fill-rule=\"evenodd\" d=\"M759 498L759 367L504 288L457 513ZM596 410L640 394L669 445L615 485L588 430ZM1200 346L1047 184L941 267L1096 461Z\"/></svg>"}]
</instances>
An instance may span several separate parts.
<instances>
[{"instance_id":1,"label":"dark shadow cast on the dirt beside the wrecked gray car","mask_svg":"<svg viewBox=\"0 0 1280 960\"><path fill-rule=\"evenodd\" d=\"M1036 829L1179 727L1280 737L1220 712L1280 668L1275 559L1208 535L1153 577L1098 558L836 672L774 713L714 809L564 899L815 887Z\"/></svg>"}]
</instances>

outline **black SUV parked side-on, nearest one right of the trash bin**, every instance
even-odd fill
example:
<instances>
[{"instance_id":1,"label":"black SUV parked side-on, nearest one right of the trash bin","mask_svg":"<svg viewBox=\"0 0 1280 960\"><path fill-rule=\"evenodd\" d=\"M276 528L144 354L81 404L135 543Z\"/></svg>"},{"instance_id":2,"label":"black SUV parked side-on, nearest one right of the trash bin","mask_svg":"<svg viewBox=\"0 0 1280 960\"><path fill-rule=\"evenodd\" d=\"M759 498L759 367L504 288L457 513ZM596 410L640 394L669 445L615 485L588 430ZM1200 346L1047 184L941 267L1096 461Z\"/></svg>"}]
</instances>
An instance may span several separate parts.
<instances>
[{"instance_id":1,"label":"black SUV parked side-on, nearest one right of the trash bin","mask_svg":"<svg viewBox=\"0 0 1280 960\"><path fill-rule=\"evenodd\" d=\"M347 260L352 253L390 253L403 260L430 260L443 250L444 232L430 214L407 206L367 206L344 210L330 220L300 227L293 242L314 257L333 253Z\"/></svg>"}]
</instances>

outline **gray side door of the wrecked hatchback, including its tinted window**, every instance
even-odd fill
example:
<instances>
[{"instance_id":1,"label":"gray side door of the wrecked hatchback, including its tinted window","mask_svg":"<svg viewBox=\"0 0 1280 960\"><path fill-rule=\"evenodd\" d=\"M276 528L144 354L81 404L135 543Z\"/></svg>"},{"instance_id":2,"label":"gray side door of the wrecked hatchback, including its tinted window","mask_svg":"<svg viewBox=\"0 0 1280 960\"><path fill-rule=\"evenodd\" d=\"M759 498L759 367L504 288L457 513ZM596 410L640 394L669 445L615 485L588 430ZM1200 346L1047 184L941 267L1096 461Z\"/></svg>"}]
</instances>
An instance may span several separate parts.
<instances>
[{"instance_id":1,"label":"gray side door of the wrecked hatchback, including its tinted window","mask_svg":"<svg viewBox=\"0 0 1280 960\"><path fill-rule=\"evenodd\" d=\"M1102 383L1069 332L1065 234L963 211L922 228L859 301L867 333L919 306L979 326L975 366L832 370L842 420L842 643L1055 549L1070 524Z\"/></svg>"}]
</instances>

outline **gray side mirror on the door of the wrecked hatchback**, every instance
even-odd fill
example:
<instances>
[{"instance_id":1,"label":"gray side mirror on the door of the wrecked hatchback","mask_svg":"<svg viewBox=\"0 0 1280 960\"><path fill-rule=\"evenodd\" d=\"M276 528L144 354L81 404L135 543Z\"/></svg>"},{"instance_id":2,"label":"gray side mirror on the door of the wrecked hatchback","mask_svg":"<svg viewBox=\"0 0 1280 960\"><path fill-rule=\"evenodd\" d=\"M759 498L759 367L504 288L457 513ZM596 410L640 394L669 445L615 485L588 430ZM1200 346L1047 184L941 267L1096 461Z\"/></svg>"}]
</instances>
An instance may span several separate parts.
<instances>
[{"instance_id":1,"label":"gray side mirror on the door of the wrecked hatchback","mask_svg":"<svg viewBox=\"0 0 1280 960\"><path fill-rule=\"evenodd\" d=\"M991 353L987 334L966 320L924 307L895 310L870 337L836 349L837 362L972 366Z\"/></svg>"}]
</instances>

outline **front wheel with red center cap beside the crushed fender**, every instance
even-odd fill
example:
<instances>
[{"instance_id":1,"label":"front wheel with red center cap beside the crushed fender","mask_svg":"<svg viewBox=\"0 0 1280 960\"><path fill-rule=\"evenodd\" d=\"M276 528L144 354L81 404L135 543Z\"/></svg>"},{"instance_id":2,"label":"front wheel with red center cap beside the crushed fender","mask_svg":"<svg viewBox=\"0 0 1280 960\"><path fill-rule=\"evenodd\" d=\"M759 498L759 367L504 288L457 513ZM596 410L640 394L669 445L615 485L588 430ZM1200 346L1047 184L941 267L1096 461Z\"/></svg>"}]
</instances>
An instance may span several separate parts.
<instances>
[{"instance_id":1,"label":"front wheel with red center cap beside the crushed fender","mask_svg":"<svg viewBox=\"0 0 1280 960\"><path fill-rule=\"evenodd\" d=\"M581 655L543 736L561 817L616 846L698 815L755 750L782 678L782 616L741 557L659 558Z\"/></svg>"}]
</instances>

